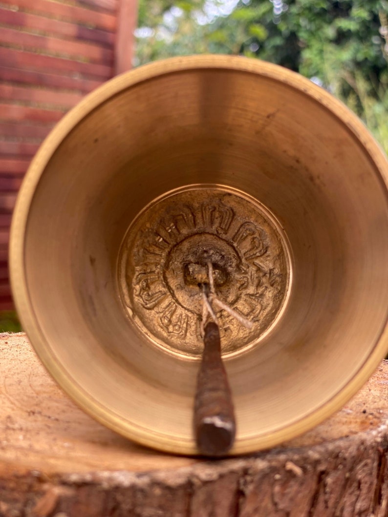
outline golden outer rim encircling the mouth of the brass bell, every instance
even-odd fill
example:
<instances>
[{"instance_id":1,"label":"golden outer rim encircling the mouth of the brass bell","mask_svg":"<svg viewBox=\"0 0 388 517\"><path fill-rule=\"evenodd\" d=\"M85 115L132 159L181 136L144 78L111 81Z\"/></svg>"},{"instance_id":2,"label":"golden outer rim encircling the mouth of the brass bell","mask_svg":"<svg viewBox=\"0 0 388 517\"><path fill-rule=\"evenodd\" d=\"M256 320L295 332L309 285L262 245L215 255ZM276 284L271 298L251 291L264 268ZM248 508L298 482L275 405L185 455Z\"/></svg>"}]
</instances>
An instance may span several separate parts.
<instances>
[{"instance_id":1,"label":"golden outer rim encircling the mouth of the brass bell","mask_svg":"<svg viewBox=\"0 0 388 517\"><path fill-rule=\"evenodd\" d=\"M80 121L95 110L100 104L106 102L112 96L121 93L131 86L138 85L144 81L154 79L160 75L176 73L180 71L199 70L199 69L229 69L246 73L262 75L276 81L281 81L288 86L297 89L302 94L319 102L338 121L346 126L357 142L361 143L370 161L379 171L379 179L385 185L385 193L388 199L388 162L380 146L371 136L365 126L342 102L335 99L321 87L315 85L299 74L286 70L277 65L260 62L237 56L215 56L201 55L189 57L176 57L163 60L161 62L144 65L138 69L131 70L116 78L108 81L94 92L87 95L80 104L68 112L42 143L38 153L34 157L28 168L22 187L20 189L14 215L12 218L10 233L10 280L21 323L26 334L38 354L44 367L53 376L55 381L62 389L77 403L87 414L105 424L110 429L136 440L136 442L178 454L196 454L196 448L187 442L179 443L176 437L168 439L165 437L161 446L159 433L151 433L147 430L146 435L142 428L130 425L128 422L121 421L120 417L115 417L105 407L93 399L91 394L87 394L78 387L76 379L62 368L54 355L50 351L50 345L42 329L39 326L37 316L32 306L28 288L26 284L26 273L24 267L24 238L27 230L27 219L36 187L39 183L41 174L51 159L55 149L61 144L66 135L77 126ZM354 373L351 380L335 396L313 410L307 416L288 424L285 428L278 429L270 435L256 436L252 438L241 438L232 449L230 455L245 454L256 450L270 448L278 445L285 440L290 440L322 422L332 415L356 393L357 390L367 381L372 373L377 369L381 360L388 351L388 316L384 323L384 328L376 340L371 354L365 362Z\"/></svg>"}]
</instances>

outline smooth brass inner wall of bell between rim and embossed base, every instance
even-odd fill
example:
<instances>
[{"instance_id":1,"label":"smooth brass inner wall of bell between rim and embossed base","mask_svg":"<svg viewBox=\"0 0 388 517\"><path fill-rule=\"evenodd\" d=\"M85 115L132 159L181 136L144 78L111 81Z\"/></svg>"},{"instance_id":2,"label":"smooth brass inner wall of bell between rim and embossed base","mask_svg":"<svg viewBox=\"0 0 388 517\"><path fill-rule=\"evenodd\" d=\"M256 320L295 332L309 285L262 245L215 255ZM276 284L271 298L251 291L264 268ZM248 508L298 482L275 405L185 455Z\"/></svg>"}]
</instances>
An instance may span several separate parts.
<instances>
[{"instance_id":1,"label":"smooth brass inner wall of bell between rim and embossed base","mask_svg":"<svg viewBox=\"0 0 388 517\"><path fill-rule=\"evenodd\" d=\"M178 451L195 450L198 361L144 339L123 310L117 264L139 212L187 185L257 200L292 257L282 317L260 346L226 360L238 451L330 401L374 348L387 312L386 189L336 115L254 73L162 75L124 89L64 139L26 232L39 327L64 375L107 420L155 444L173 440Z\"/></svg>"}]
</instances>

